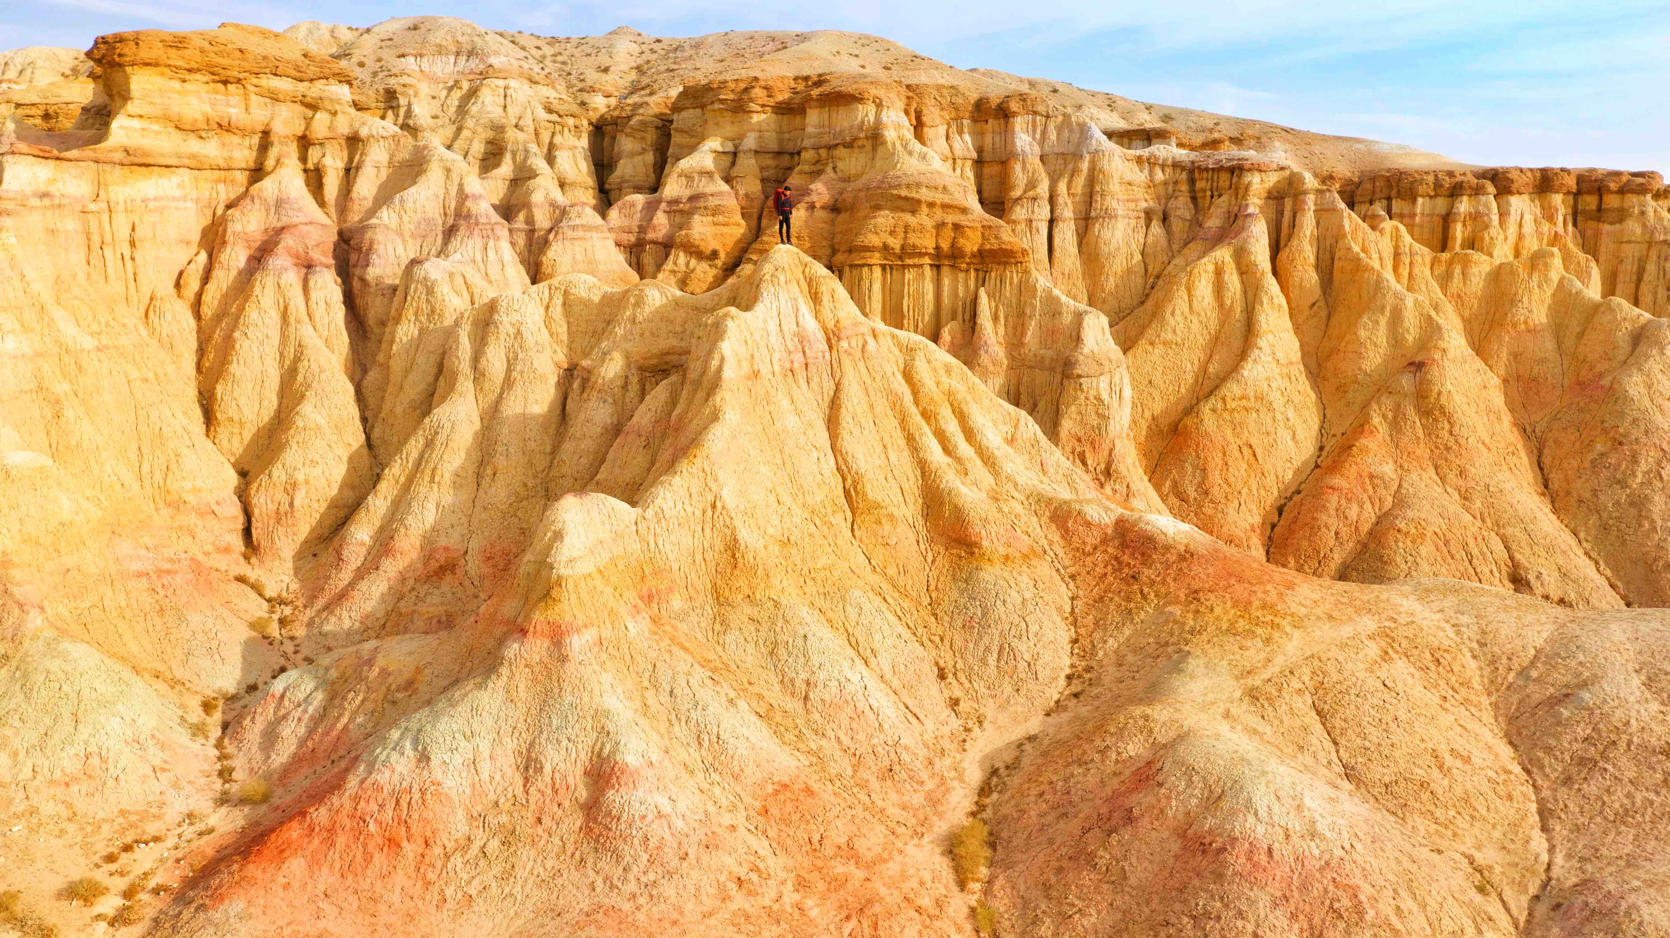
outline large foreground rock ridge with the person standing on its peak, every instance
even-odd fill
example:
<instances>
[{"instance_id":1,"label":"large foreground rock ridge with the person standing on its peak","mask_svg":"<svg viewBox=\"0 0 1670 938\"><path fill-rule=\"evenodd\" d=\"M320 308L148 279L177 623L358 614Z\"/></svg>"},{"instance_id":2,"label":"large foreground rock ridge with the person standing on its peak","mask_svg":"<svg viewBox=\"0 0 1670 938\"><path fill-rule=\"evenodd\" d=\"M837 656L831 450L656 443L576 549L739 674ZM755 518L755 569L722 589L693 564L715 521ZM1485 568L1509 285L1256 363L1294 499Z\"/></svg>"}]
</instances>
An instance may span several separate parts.
<instances>
[{"instance_id":1,"label":"large foreground rock ridge with the person standing on its peak","mask_svg":"<svg viewBox=\"0 0 1670 938\"><path fill-rule=\"evenodd\" d=\"M249 771L306 808L199 878L165 933L284 933L319 921L314 888L332 890L336 931L516 928L576 895L620 908L596 886L620 876L625 933L720 933L757 903L778 911L768 933L964 926L939 831L960 823L965 759L1022 736L987 783L982 898L1020 930L1080 903L1106 911L1074 918L1079 933L1221 908L1249 928L1369 928L1408 903L1431 935L1511 935L1531 915L1566 841L1550 845L1538 783L1488 714L1515 706L1506 678L1558 613L1533 603L1533 634L1506 633L1483 611L1511 606L1500 591L1329 584L1121 512L974 374L865 320L788 247L703 297L556 280L476 307L451 342L464 374L439 381L336 561L352 586L332 629L384 638L287 676L234 733ZM553 381L513 350L584 361ZM509 401L561 416L518 421ZM464 439L481 442L449 446ZM526 476L481 476L488 452L554 452L573 481L503 491ZM473 509L411 502L424 477L461 482L454 504ZM713 499L695 524L693 487ZM738 603L785 552L800 576ZM374 714L342 704L367 671L392 694ZM1388 693L1420 718L1376 719ZM935 794L898 803L895 786ZM499 804L498 826L471 821L479 803ZM364 818L389 819L366 838ZM690 843L711 860L673 865ZM558 845L573 873L514 861ZM760 898L726 886L750 858ZM349 870L379 891L342 898L331 883ZM1361 896L1344 910L1328 900L1339 881ZM813 900L818 920L800 921Z\"/></svg>"}]
</instances>

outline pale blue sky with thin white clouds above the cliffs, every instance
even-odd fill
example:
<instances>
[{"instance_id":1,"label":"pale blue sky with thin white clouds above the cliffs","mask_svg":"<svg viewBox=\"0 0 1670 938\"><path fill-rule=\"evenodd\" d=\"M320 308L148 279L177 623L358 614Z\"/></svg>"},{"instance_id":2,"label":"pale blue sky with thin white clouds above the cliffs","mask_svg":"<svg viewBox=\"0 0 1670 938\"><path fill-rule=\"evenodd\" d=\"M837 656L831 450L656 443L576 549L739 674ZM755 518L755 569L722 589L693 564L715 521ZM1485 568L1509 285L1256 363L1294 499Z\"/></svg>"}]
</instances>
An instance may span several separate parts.
<instances>
[{"instance_id":1,"label":"pale blue sky with thin white clouds above the cliffs","mask_svg":"<svg viewBox=\"0 0 1670 938\"><path fill-rule=\"evenodd\" d=\"M840 28L964 68L1408 144L1485 165L1670 175L1670 0L10 0L0 48L99 33L356 27L419 13L488 28L651 35Z\"/></svg>"}]
</instances>

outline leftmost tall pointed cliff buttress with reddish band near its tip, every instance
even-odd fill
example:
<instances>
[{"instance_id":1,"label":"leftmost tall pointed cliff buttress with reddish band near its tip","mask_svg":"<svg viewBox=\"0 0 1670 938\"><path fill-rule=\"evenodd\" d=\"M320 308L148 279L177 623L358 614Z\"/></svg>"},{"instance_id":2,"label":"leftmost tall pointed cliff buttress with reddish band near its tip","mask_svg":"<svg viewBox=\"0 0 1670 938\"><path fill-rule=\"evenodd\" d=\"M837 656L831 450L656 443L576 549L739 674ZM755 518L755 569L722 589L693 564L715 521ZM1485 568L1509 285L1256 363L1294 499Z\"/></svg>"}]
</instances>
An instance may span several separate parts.
<instances>
[{"instance_id":1,"label":"leftmost tall pointed cliff buttress with reddish band near its tip","mask_svg":"<svg viewBox=\"0 0 1670 938\"><path fill-rule=\"evenodd\" d=\"M374 476L334 235L301 167L286 162L220 215L197 294L209 439L242 477L266 562L332 534Z\"/></svg>"}]
</instances>

